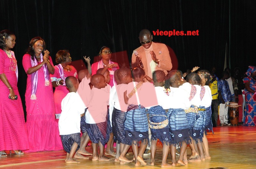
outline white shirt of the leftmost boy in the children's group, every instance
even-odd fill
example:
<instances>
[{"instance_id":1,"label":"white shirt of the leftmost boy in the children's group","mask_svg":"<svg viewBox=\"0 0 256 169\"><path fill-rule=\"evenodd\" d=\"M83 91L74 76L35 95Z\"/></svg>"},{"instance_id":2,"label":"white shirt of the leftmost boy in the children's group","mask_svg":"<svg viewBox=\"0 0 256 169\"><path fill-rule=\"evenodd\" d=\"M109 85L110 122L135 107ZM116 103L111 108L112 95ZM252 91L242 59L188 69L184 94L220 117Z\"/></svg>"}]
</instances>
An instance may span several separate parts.
<instances>
[{"instance_id":1,"label":"white shirt of the leftmost boy in the children's group","mask_svg":"<svg viewBox=\"0 0 256 169\"><path fill-rule=\"evenodd\" d=\"M81 114L85 105L78 93L69 92L61 101L61 114L59 120L60 135L80 133Z\"/></svg>"}]
</instances>

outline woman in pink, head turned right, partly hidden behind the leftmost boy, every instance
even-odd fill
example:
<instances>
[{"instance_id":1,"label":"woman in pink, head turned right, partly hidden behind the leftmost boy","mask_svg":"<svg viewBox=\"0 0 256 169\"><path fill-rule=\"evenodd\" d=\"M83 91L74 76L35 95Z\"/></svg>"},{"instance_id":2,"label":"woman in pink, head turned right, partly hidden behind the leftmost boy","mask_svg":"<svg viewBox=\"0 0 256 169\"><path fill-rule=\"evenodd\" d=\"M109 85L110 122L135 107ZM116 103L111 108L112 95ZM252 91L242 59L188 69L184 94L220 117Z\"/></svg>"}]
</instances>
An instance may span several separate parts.
<instances>
[{"instance_id":1,"label":"woman in pink, head turned right, partly hidden behind the leftmost boy","mask_svg":"<svg viewBox=\"0 0 256 169\"><path fill-rule=\"evenodd\" d=\"M56 63L59 65L54 66L54 74L51 74L52 86L55 87L54 101L55 101L55 117L56 122L59 122L61 113L61 101L68 94L65 79L68 76L78 77L76 68L69 65L71 63L70 53L67 50L59 50L56 54Z\"/></svg>"}]
</instances>

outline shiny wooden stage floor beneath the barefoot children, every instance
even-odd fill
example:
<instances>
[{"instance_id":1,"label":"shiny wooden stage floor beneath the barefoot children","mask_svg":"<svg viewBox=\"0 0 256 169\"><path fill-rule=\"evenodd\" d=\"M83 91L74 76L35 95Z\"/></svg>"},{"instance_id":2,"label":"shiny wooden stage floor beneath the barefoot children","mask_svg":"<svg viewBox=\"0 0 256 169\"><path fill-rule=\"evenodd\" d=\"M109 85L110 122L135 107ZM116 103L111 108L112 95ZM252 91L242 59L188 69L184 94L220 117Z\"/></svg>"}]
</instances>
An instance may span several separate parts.
<instances>
[{"instance_id":1,"label":"shiny wooden stage floor beneath the barefoot children","mask_svg":"<svg viewBox=\"0 0 256 169\"><path fill-rule=\"evenodd\" d=\"M179 169L185 168L256 168L256 128L255 127L233 127L218 126L214 127L214 134L207 135L209 150L212 159L202 162L189 162L186 166L176 166ZM91 146L86 150L92 152ZM188 155L191 154L189 147ZM128 158L132 159L132 150L129 150ZM8 154L7 157L0 157L0 168L160 168L162 160L162 144L158 142L156 151L155 166L135 167L134 162L124 165L115 163L114 160L108 162L92 161L90 159L78 159L80 163L66 164L66 153L64 151L44 151L26 153L23 155ZM150 156L143 157L147 163ZM178 158L178 156L176 156ZM171 163L169 154L168 163ZM170 167L170 168L176 168Z\"/></svg>"}]
</instances>

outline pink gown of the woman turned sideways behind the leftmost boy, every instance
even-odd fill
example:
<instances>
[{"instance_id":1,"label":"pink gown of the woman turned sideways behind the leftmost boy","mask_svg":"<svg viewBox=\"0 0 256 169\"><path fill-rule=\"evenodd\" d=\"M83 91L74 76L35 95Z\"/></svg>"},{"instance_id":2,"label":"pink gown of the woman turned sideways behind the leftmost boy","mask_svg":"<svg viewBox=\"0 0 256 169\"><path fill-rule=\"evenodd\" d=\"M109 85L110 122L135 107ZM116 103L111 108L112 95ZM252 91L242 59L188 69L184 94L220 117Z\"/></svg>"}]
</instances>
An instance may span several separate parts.
<instances>
[{"instance_id":1,"label":"pink gown of the woman turned sideways behind the leftmost boy","mask_svg":"<svg viewBox=\"0 0 256 169\"><path fill-rule=\"evenodd\" d=\"M76 79L78 78L78 74L77 74L77 71L76 71L76 68L73 67L73 66L70 66L72 67L72 70L70 70L69 72L64 70L64 77L68 77L68 76L74 76L76 77ZM60 72L59 72L59 67L57 66L54 66L54 74L51 74L51 80L52 81L56 81L57 79L60 79ZM65 79L64 79L65 81ZM55 114L56 114L56 122L58 123L59 122L59 117L60 117L60 113L61 113L61 101L62 99L68 94L68 89L66 88L66 86L57 86L55 88L55 91L54 91L54 102L55 102Z\"/></svg>"}]
</instances>

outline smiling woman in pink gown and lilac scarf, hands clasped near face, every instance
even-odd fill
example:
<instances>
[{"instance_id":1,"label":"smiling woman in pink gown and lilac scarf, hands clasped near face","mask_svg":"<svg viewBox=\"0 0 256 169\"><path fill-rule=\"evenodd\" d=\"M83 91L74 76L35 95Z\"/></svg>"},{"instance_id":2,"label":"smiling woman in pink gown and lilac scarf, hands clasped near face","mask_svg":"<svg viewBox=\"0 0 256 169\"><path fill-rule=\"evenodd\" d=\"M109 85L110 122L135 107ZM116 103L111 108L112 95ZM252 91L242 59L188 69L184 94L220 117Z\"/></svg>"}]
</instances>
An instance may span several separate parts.
<instances>
[{"instance_id":1,"label":"smiling woman in pink gown and lilac scarf, hands clasped near face","mask_svg":"<svg viewBox=\"0 0 256 169\"><path fill-rule=\"evenodd\" d=\"M49 51L45 50L44 39L31 39L22 65L28 75L25 93L28 152L62 150L50 82L54 67Z\"/></svg>"}]
</instances>

